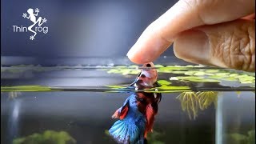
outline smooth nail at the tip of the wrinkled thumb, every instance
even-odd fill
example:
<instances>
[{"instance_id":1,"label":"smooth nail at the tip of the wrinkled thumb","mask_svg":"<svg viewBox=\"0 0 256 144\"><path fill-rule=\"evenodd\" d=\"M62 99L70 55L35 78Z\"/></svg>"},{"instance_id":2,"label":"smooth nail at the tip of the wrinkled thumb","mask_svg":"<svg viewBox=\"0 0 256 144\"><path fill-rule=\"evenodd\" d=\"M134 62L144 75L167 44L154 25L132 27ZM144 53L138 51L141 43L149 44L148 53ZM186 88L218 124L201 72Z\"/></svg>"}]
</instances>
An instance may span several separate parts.
<instances>
[{"instance_id":1,"label":"smooth nail at the tip of the wrinkled thumb","mask_svg":"<svg viewBox=\"0 0 256 144\"><path fill-rule=\"evenodd\" d=\"M210 61L210 44L206 33L189 30L174 40L174 54L188 62L207 64Z\"/></svg>"}]
</instances>

